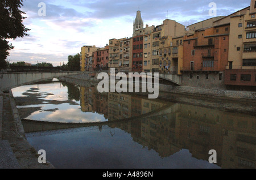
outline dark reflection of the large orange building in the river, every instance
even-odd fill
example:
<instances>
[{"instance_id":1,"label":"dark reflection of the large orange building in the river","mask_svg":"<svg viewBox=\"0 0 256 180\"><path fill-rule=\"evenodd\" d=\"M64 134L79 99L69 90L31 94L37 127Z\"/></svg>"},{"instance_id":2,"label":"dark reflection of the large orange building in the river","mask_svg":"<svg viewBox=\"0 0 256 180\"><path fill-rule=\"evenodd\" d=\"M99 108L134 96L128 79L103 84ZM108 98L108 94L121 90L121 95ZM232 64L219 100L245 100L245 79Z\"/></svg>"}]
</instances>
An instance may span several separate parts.
<instances>
[{"instance_id":1,"label":"dark reflection of the large orange building in the river","mask_svg":"<svg viewBox=\"0 0 256 180\"><path fill-rule=\"evenodd\" d=\"M179 143L189 149L197 159L208 160L211 149L217 151L217 164L222 156L222 113L199 106L181 105L178 115L180 123Z\"/></svg>"}]
</instances>

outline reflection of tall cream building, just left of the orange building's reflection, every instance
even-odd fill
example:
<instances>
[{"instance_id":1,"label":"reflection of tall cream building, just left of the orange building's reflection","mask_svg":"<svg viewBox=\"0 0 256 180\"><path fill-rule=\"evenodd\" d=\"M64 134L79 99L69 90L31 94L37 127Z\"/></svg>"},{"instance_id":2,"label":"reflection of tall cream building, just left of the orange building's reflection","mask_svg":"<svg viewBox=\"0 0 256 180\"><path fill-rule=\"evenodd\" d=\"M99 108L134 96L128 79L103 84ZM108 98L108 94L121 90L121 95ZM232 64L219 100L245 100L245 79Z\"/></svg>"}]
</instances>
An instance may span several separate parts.
<instances>
[{"instance_id":1,"label":"reflection of tall cream building, just left of the orange building's reflection","mask_svg":"<svg viewBox=\"0 0 256 180\"><path fill-rule=\"evenodd\" d=\"M144 101L143 105L147 105ZM152 107L157 104L152 104ZM180 150L177 143L179 125L176 124L176 107L172 105L164 114L142 118L141 139L138 140L148 149L154 149L161 157L168 157ZM177 132L176 132L177 131Z\"/></svg>"}]
</instances>

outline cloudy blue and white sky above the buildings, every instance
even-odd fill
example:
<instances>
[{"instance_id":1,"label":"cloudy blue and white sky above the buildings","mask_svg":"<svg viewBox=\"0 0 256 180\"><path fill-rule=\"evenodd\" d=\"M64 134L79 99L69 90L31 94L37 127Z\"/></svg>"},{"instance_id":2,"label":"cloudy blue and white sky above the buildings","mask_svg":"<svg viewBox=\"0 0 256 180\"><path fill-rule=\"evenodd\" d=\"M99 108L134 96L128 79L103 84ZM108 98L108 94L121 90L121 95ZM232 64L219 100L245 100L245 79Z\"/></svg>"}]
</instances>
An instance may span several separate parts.
<instances>
[{"instance_id":1,"label":"cloudy blue and white sky above the buildings","mask_svg":"<svg viewBox=\"0 0 256 180\"><path fill-rule=\"evenodd\" d=\"M164 19L185 26L213 18L209 3L217 6L216 16L232 14L250 6L250 0L24 0L23 23L31 29L23 38L10 40L14 49L7 61L52 63L68 62L68 55L81 52L84 45L103 48L112 38L133 36L133 20L141 11L144 27L160 25ZM46 5L45 16L42 16Z\"/></svg>"}]
</instances>

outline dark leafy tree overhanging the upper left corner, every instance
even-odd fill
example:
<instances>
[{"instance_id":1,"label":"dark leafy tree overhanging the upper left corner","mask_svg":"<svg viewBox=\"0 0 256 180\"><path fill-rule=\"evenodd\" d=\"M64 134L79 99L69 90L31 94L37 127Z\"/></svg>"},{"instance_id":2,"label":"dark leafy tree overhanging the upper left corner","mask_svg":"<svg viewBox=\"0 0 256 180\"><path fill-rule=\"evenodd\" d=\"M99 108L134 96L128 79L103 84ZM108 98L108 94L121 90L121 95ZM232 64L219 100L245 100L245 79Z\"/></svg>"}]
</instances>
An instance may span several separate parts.
<instances>
[{"instance_id":1,"label":"dark leafy tree overhanging the upper left corner","mask_svg":"<svg viewBox=\"0 0 256 180\"><path fill-rule=\"evenodd\" d=\"M25 12L19 10L23 6L22 2L23 0L0 1L0 69L7 67L5 59L9 55L8 50L14 49L7 40L28 36L26 32L30 31L23 25L26 17L22 16Z\"/></svg>"}]
</instances>

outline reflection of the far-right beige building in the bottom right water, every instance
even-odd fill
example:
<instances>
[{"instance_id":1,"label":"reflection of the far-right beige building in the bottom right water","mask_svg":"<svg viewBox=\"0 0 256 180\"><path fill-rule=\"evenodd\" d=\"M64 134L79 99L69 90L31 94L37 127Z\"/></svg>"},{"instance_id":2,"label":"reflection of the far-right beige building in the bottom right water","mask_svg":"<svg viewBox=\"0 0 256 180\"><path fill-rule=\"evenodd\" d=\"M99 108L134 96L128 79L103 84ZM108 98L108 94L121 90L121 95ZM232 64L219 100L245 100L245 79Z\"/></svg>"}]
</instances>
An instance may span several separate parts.
<instances>
[{"instance_id":1,"label":"reflection of the far-right beige building in the bottom right water","mask_svg":"<svg viewBox=\"0 0 256 180\"><path fill-rule=\"evenodd\" d=\"M230 113L224 119L223 168L255 168L255 117Z\"/></svg>"}]
</instances>

